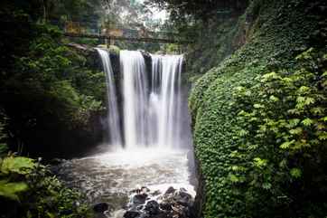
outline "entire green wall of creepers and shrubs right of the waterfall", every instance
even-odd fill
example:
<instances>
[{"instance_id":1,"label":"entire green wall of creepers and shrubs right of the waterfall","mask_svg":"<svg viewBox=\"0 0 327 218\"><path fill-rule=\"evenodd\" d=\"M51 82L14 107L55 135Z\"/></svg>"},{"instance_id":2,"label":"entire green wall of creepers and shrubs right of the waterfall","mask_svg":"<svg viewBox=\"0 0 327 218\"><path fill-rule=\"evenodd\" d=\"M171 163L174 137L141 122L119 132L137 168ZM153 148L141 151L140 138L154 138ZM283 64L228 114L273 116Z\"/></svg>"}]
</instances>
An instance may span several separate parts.
<instances>
[{"instance_id":1,"label":"entire green wall of creepers and shrubs right of the waterfall","mask_svg":"<svg viewBox=\"0 0 327 218\"><path fill-rule=\"evenodd\" d=\"M327 213L323 5L253 1L238 21L245 44L196 82L205 217Z\"/></svg>"}]
</instances>

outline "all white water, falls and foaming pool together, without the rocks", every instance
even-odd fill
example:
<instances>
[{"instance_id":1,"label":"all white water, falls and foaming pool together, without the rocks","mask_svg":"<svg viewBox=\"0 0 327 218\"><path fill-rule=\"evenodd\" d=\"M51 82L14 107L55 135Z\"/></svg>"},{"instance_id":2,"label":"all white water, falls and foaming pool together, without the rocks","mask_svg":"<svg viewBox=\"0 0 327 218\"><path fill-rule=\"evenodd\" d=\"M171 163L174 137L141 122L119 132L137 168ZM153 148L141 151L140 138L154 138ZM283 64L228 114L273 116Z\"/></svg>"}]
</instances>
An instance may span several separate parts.
<instances>
[{"instance_id":1,"label":"all white water, falls and foaming pool together, without the rocks","mask_svg":"<svg viewBox=\"0 0 327 218\"><path fill-rule=\"evenodd\" d=\"M146 69L141 52L121 51L116 84L108 52L97 51L107 75L107 152L65 161L57 174L90 203L108 202L112 212L141 186L162 193L183 187L195 195L182 55L151 55L152 69Z\"/></svg>"}]
</instances>

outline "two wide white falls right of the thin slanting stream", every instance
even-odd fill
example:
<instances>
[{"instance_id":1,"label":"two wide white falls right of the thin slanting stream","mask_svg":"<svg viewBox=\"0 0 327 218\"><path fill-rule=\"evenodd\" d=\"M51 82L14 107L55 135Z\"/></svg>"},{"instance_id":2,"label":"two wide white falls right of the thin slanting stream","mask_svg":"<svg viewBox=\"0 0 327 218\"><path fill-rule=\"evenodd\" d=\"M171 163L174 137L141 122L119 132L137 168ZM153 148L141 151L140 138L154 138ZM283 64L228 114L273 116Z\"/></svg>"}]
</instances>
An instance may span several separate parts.
<instances>
[{"instance_id":1,"label":"two wide white falls right of the thin slanting stream","mask_svg":"<svg viewBox=\"0 0 327 218\"><path fill-rule=\"evenodd\" d=\"M141 52L120 52L126 149L181 144L182 55L151 56L147 76Z\"/></svg>"}]
</instances>

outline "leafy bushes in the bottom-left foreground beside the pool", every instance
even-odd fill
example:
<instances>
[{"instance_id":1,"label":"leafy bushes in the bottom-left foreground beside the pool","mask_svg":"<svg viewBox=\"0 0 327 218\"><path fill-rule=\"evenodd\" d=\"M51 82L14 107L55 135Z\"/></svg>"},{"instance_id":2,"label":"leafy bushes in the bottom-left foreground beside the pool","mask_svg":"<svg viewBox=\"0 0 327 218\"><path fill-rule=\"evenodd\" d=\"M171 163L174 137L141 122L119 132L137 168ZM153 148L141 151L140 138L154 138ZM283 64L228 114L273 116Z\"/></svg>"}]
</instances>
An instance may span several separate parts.
<instances>
[{"instance_id":1,"label":"leafy bushes in the bottom-left foreground beside the pool","mask_svg":"<svg viewBox=\"0 0 327 218\"><path fill-rule=\"evenodd\" d=\"M0 122L0 139L6 137ZM1 141L2 142L2 141ZM63 186L47 166L0 144L0 217L89 217L81 194Z\"/></svg>"}]
</instances>

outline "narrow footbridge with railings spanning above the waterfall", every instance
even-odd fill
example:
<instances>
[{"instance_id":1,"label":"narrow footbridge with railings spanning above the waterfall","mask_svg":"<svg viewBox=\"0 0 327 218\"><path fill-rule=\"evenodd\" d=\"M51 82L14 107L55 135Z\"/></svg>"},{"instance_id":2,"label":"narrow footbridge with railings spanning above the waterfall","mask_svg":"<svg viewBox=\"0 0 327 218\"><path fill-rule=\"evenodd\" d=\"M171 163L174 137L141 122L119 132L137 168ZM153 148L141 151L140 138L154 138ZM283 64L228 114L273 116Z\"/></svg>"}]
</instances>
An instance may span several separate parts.
<instances>
[{"instance_id":1,"label":"narrow footbridge with railings spanning above the waterfall","mask_svg":"<svg viewBox=\"0 0 327 218\"><path fill-rule=\"evenodd\" d=\"M145 43L177 43L189 44L192 40L171 32L151 32L144 28L126 29L121 26L105 26L98 23L68 21L58 25L68 37L94 38L108 40L110 43L118 41L145 42Z\"/></svg>"}]
</instances>

